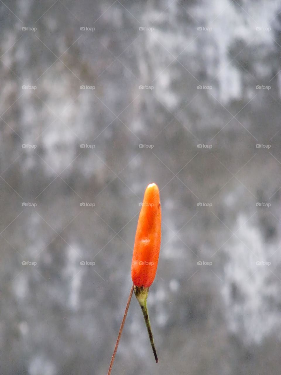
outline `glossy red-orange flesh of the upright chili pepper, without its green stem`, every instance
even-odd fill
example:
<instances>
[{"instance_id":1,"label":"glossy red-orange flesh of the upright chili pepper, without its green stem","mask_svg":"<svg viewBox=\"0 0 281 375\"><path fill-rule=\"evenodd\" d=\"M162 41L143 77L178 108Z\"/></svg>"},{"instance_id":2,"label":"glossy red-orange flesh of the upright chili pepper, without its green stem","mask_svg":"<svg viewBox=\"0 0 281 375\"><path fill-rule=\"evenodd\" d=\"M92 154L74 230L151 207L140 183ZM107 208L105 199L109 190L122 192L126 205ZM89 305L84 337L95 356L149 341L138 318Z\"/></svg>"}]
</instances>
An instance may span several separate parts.
<instances>
[{"instance_id":1,"label":"glossy red-orange flesh of the upright chili pepper, without its green stem","mask_svg":"<svg viewBox=\"0 0 281 375\"><path fill-rule=\"evenodd\" d=\"M132 259L135 286L149 288L154 281L161 243L161 205L158 186L146 187L136 230Z\"/></svg>"}]
</instances>

